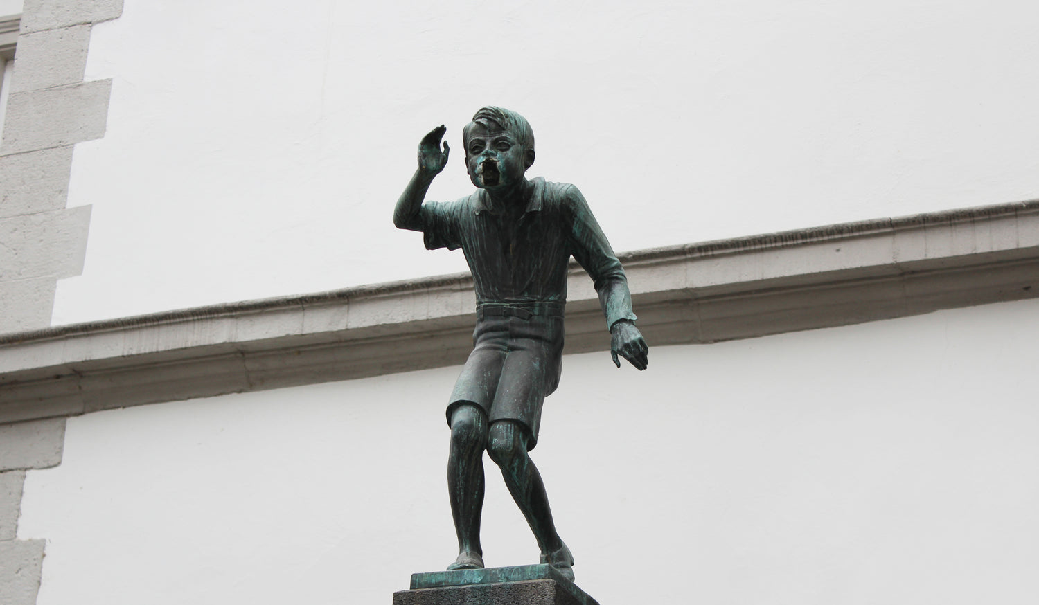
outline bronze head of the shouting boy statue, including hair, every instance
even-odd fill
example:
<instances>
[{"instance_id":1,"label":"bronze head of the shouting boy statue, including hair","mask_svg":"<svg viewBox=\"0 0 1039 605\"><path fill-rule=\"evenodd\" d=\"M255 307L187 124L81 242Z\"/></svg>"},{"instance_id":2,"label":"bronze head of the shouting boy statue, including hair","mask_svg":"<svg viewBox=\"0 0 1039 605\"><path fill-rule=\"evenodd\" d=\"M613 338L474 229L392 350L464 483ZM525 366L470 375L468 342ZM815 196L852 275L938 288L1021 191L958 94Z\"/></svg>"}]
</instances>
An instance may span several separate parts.
<instances>
[{"instance_id":1,"label":"bronze head of the shouting boy statue, including hair","mask_svg":"<svg viewBox=\"0 0 1039 605\"><path fill-rule=\"evenodd\" d=\"M484 107L461 131L465 169L481 189L508 187L534 163L534 131L527 118L500 107Z\"/></svg>"}]
</instances>

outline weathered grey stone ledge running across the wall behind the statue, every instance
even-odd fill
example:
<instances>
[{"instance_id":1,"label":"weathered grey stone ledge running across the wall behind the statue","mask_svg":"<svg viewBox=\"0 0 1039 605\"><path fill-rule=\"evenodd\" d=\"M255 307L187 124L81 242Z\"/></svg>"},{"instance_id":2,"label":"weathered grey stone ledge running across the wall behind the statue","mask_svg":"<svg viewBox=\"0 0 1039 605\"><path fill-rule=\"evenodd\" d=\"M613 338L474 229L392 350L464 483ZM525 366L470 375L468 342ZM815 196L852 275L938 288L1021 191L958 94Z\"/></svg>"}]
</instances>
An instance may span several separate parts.
<instances>
[{"instance_id":1,"label":"weathered grey stone ledge running across the wall behind the statue","mask_svg":"<svg viewBox=\"0 0 1039 605\"><path fill-rule=\"evenodd\" d=\"M621 255L651 346L714 342L1039 294L1039 200ZM0 422L461 363L468 275L0 335ZM571 268L567 353L607 350Z\"/></svg>"}]
</instances>

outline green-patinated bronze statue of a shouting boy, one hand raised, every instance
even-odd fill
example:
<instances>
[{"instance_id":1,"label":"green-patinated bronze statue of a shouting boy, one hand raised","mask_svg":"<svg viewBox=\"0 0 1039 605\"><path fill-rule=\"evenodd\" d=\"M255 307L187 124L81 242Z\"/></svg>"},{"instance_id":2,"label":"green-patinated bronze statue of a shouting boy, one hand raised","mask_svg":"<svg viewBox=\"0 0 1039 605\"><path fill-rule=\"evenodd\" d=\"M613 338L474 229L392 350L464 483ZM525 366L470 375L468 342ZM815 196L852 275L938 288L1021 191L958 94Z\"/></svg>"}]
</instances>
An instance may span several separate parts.
<instances>
[{"instance_id":1,"label":"green-patinated bronze statue of a shouting boy, one hand raised","mask_svg":"<svg viewBox=\"0 0 1039 605\"><path fill-rule=\"evenodd\" d=\"M458 558L449 570L480 569L483 451L501 467L512 498L551 563L574 578L549 499L528 451L537 444L544 396L562 363L563 306L570 255L594 280L617 356L645 369L645 340L635 327L628 279L581 192L572 185L528 181L534 134L520 114L484 107L462 130L465 166L478 190L453 202L423 203L447 164L447 129L419 144L419 168L397 200L394 224L423 231L426 248L461 248L477 298L474 348L447 408L451 427L448 488Z\"/></svg>"}]
</instances>

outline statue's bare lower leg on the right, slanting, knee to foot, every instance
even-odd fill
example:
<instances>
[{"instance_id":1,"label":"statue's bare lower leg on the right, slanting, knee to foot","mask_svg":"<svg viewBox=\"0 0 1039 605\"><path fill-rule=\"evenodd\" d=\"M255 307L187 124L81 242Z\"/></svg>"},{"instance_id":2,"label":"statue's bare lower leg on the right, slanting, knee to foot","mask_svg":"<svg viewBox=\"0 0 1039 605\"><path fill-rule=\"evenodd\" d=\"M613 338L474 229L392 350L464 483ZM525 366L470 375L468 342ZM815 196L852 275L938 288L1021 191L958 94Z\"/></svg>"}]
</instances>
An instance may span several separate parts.
<instances>
[{"instance_id":1,"label":"statue's bare lower leg on the right, slanting, knee to foot","mask_svg":"<svg viewBox=\"0 0 1039 605\"><path fill-rule=\"evenodd\" d=\"M527 518L534 532L537 546L541 549L541 561L550 562L563 575L574 579L574 557L552 520L549 495L544 491L541 473L527 453L527 432L514 420L498 420L490 425L487 453L502 469L505 485L512 499Z\"/></svg>"}]
</instances>

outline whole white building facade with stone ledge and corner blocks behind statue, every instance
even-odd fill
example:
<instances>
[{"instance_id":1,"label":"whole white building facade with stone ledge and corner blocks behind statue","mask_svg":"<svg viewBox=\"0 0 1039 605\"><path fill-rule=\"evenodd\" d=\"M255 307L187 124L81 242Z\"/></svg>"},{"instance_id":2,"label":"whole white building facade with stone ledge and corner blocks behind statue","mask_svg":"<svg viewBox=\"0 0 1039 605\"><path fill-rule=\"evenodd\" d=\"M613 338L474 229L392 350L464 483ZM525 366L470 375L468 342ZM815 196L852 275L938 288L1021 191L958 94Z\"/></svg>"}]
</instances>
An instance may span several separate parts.
<instances>
[{"instance_id":1,"label":"whole white building facade with stone ledge and corner blocks behind statue","mask_svg":"<svg viewBox=\"0 0 1039 605\"><path fill-rule=\"evenodd\" d=\"M485 104L634 250L650 366L575 267L533 452L582 588L1034 600L1039 9L217 4L0 16L0 602L389 602L453 559L475 299L390 215L442 122L430 198L470 191ZM487 563L535 562L487 468Z\"/></svg>"}]
</instances>

